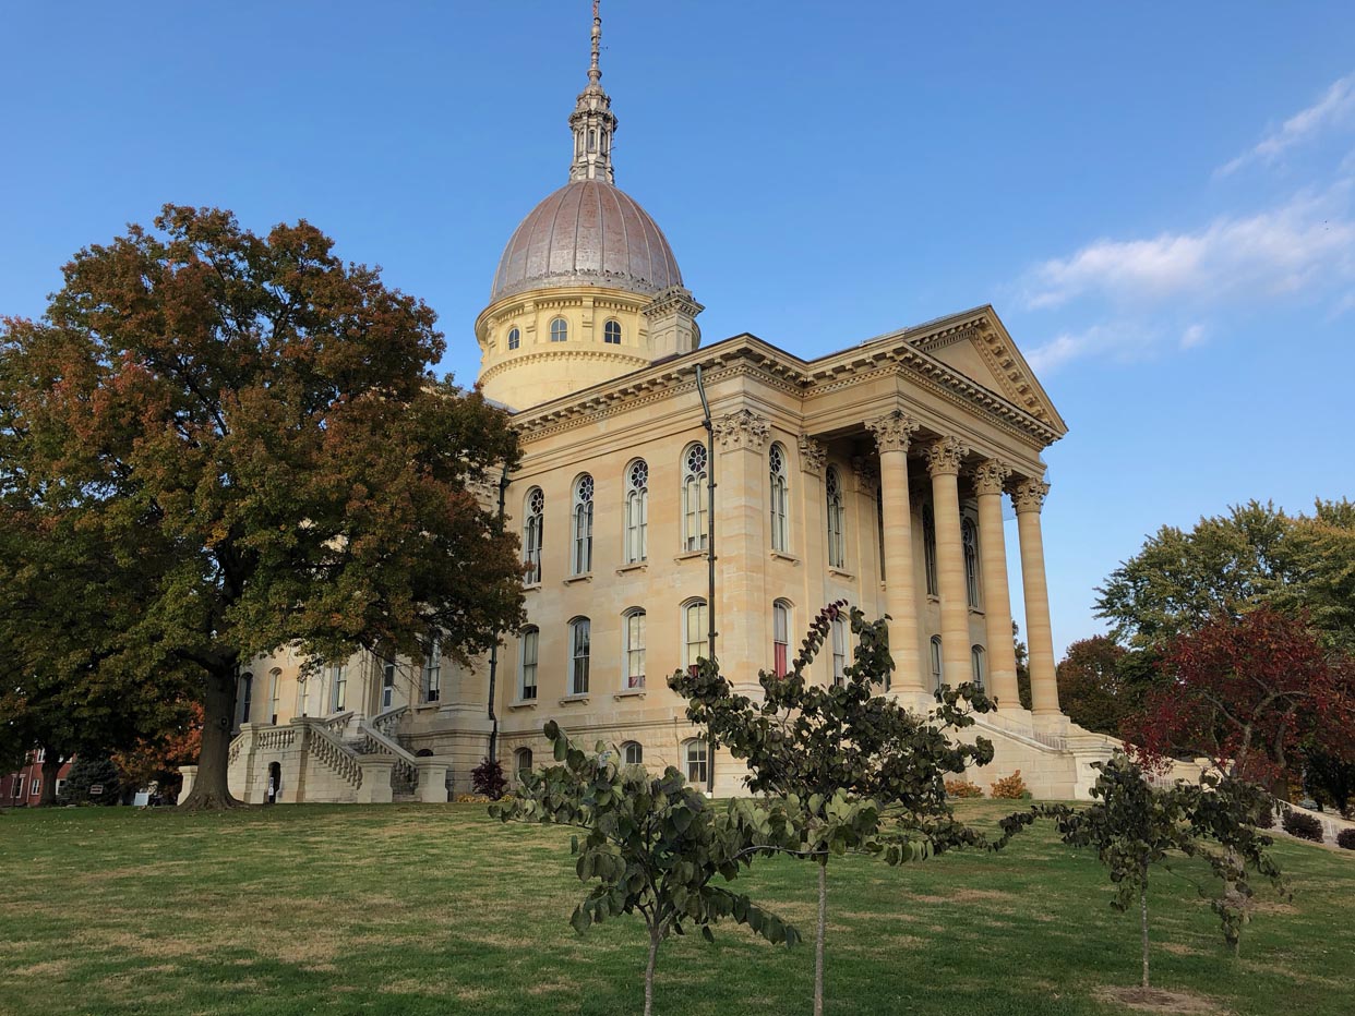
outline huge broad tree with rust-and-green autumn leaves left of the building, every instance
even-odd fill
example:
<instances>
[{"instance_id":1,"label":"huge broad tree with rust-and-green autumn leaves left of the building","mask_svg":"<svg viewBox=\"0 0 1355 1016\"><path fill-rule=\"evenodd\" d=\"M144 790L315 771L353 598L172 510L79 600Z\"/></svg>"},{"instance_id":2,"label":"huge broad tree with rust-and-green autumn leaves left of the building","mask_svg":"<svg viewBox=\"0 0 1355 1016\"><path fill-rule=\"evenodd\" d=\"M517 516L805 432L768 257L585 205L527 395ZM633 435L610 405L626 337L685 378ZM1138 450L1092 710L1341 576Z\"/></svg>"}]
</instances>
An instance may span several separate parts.
<instances>
[{"instance_id":1,"label":"huge broad tree with rust-and-green autumn leaves left of the building","mask_svg":"<svg viewBox=\"0 0 1355 1016\"><path fill-rule=\"evenodd\" d=\"M37 568L85 553L53 616L117 616L61 631L79 657L61 680L167 700L191 681L187 803L225 807L256 654L419 654L440 631L466 658L519 623L516 539L476 494L518 446L505 413L428 371L434 313L314 226L260 237L175 206L154 225L77 253L41 321L0 324L0 499L33 523ZM45 607L0 603L0 638Z\"/></svg>"}]
</instances>

